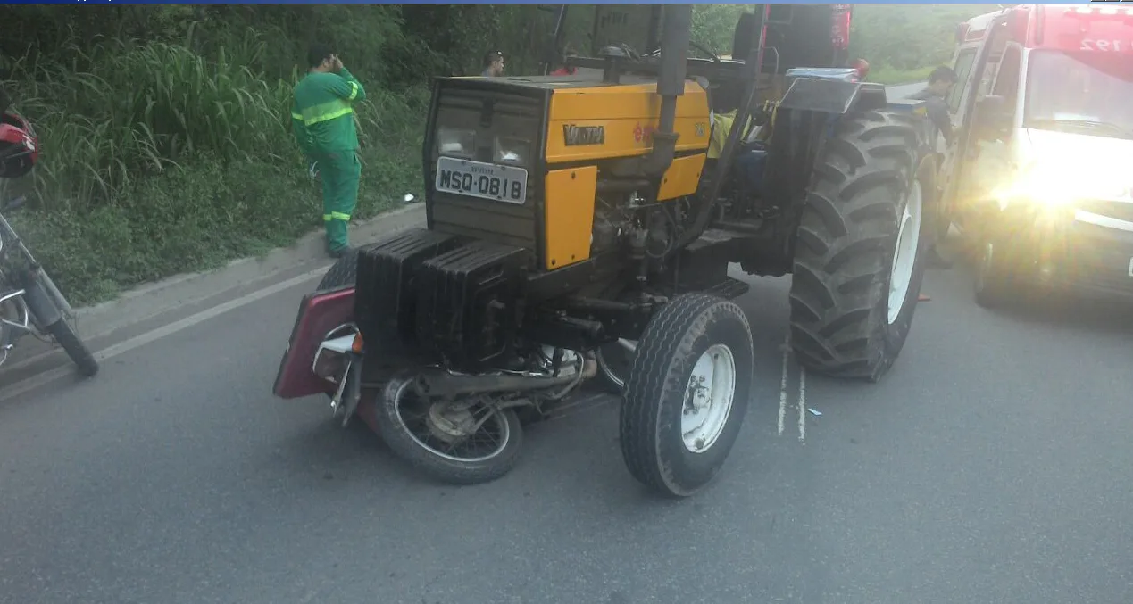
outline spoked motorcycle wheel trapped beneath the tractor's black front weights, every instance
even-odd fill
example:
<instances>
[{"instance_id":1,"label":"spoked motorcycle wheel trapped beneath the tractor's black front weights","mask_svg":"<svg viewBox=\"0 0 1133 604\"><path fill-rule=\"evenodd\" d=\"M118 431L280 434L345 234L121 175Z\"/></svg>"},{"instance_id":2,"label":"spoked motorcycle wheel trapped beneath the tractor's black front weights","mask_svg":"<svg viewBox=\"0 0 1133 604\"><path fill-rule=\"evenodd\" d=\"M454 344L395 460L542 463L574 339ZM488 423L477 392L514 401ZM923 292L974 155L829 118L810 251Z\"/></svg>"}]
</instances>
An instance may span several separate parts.
<instances>
[{"instance_id":1,"label":"spoked motorcycle wheel trapped beneath the tractor's black front weights","mask_svg":"<svg viewBox=\"0 0 1133 604\"><path fill-rule=\"evenodd\" d=\"M429 478L453 485L488 483L516 467L523 432L514 410L421 401L412 380L410 374L394 377L375 405L378 432L395 456ZM469 431L472 423L479 425ZM485 440L491 444L462 450Z\"/></svg>"}]
</instances>

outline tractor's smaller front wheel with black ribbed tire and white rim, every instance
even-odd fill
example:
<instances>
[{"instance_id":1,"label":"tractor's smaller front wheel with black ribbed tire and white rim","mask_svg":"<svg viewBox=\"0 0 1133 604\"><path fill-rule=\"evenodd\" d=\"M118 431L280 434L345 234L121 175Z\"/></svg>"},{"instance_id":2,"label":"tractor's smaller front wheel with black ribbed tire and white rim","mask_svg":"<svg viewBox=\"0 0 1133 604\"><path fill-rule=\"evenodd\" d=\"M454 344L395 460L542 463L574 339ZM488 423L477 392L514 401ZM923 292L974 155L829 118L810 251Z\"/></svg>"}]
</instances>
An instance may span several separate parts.
<instances>
[{"instance_id":1,"label":"tractor's smaller front wheel with black ribbed tire and white rim","mask_svg":"<svg viewBox=\"0 0 1133 604\"><path fill-rule=\"evenodd\" d=\"M732 301L688 294L646 326L625 381L619 433L631 475L684 497L727 459L752 394L751 325Z\"/></svg>"}]
</instances>

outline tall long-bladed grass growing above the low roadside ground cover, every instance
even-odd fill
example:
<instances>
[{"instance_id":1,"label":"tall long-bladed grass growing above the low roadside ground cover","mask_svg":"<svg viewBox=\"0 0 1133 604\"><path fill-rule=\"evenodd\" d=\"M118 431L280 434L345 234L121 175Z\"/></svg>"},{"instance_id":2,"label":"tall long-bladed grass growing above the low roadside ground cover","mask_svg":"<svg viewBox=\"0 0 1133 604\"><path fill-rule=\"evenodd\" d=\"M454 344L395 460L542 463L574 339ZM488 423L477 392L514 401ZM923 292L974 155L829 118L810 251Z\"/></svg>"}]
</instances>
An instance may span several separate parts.
<instances>
[{"instance_id":1,"label":"tall long-bladed grass growing above the low roadside ground cover","mask_svg":"<svg viewBox=\"0 0 1133 604\"><path fill-rule=\"evenodd\" d=\"M63 51L88 69L46 65L17 73L20 110L44 148L35 171L43 205L105 203L135 178L194 154L282 159L289 145L281 113L290 91L248 67L263 49L257 39L249 31L240 54L221 49L213 60L160 42L70 45Z\"/></svg>"}]
</instances>

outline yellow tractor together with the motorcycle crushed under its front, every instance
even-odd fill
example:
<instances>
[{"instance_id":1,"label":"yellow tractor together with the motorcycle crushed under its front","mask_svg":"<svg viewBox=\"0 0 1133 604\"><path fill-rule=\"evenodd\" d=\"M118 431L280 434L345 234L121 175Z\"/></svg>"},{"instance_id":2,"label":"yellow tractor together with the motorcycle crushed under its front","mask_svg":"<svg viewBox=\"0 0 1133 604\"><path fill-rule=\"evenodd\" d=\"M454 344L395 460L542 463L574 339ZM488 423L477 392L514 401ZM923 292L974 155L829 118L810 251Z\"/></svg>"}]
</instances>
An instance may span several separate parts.
<instances>
[{"instance_id":1,"label":"yellow tractor together with the motorcycle crushed under its front","mask_svg":"<svg viewBox=\"0 0 1133 604\"><path fill-rule=\"evenodd\" d=\"M809 368L887 372L938 158L921 101L842 67L850 7L757 6L727 60L689 57L689 6L598 10L606 35L566 58L572 75L435 82L426 227L343 257L304 298L276 395L324 392L417 469L471 484L516 465L521 416L595 378L622 397L630 474L687 496L753 394L730 265L793 274Z\"/></svg>"}]
</instances>

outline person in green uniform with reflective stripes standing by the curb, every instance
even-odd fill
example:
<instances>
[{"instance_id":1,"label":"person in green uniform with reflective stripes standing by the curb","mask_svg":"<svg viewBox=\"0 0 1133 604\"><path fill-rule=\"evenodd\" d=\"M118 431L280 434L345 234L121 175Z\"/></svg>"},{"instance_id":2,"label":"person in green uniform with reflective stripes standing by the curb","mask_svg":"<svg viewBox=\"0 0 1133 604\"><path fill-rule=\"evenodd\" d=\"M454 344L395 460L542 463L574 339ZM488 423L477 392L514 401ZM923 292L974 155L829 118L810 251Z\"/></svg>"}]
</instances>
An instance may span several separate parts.
<instances>
[{"instance_id":1,"label":"person in green uniform with reflective stripes standing by the curb","mask_svg":"<svg viewBox=\"0 0 1133 604\"><path fill-rule=\"evenodd\" d=\"M310 69L295 87L291 125L308 169L323 180L326 252L340 257L350 249L347 224L361 177L352 105L366 91L326 44L313 44L307 61Z\"/></svg>"}]
</instances>

